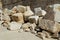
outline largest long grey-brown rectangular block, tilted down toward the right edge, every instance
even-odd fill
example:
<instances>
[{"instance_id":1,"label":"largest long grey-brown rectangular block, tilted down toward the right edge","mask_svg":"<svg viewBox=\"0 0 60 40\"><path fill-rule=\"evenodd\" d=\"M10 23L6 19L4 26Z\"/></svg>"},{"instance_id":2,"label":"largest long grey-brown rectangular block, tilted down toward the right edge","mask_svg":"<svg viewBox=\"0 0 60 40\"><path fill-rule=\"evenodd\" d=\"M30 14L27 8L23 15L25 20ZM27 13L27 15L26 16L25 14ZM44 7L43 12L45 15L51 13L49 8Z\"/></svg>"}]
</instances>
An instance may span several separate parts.
<instances>
[{"instance_id":1,"label":"largest long grey-brown rectangular block, tilted down toward the right edge","mask_svg":"<svg viewBox=\"0 0 60 40\"><path fill-rule=\"evenodd\" d=\"M54 21L46 20L46 19L41 19L39 20L39 27L50 31L52 33L57 33L60 31L60 24Z\"/></svg>"}]
</instances>

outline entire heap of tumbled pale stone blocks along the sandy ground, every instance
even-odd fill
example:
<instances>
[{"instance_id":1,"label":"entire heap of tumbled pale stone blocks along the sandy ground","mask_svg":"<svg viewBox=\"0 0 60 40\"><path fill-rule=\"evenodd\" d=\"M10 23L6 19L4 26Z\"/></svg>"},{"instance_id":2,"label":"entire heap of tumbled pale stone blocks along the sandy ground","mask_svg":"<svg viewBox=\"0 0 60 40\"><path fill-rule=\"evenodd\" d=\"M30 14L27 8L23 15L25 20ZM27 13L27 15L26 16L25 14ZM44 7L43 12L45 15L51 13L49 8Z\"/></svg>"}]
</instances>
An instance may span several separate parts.
<instances>
[{"instance_id":1,"label":"entire heap of tumbled pale stone blocks along the sandy ground","mask_svg":"<svg viewBox=\"0 0 60 40\"><path fill-rule=\"evenodd\" d=\"M31 32L43 40L59 39L60 24L57 21L45 19L48 13L41 7L35 8L34 11L30 6L22 5L15 6L11 10L5 8L0 12L2 15L0 20L3 21L0 25L10 31ZM55 11L55 13L58 12Z\"/></svg>"}]
</instances>

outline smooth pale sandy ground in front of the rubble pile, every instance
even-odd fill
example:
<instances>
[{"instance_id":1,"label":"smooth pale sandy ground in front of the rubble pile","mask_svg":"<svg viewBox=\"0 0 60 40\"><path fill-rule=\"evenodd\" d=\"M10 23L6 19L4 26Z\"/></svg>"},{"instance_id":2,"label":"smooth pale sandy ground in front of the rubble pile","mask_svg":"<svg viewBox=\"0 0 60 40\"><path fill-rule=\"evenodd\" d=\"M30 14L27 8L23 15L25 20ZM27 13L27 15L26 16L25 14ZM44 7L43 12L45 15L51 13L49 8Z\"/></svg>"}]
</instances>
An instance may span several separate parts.
<instances>
[{"instance_id":1,"label":"smooth pale sandy ground in front of the rubble pile","mask_svg":"<svg viewBox=\"0 0 60 40\"><path fill-rule=\"evenodd\" d=\"M30 32L0 30L0 40L41 40Z\"/></svg>"}]
</instances>

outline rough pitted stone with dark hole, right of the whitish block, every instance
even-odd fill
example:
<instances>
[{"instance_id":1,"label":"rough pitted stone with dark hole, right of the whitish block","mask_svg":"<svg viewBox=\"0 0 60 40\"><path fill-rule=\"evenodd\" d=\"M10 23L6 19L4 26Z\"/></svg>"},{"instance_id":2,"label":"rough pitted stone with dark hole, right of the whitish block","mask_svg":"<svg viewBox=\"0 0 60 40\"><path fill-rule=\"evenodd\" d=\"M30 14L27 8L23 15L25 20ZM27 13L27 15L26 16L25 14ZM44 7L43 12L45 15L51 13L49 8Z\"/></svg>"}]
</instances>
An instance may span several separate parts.
<instances>
[{"instance_id":1,"label":"rough pitted stone with dark hole, right of the whitish block","mask_svg":"<svg viewBox=\"0 0 60 40\"><path fill-rule=\"evenodd\" d=\"M36 27L35 23L33 23L33 24L25 23L25 24L22 25L22 28L23 28L24 31L31 31L33 33L35 32L35 30L34 30L35 27Z\"/></svg>"}]
</instances>

